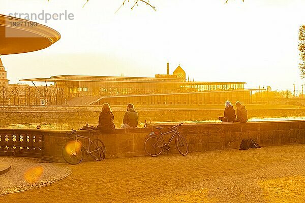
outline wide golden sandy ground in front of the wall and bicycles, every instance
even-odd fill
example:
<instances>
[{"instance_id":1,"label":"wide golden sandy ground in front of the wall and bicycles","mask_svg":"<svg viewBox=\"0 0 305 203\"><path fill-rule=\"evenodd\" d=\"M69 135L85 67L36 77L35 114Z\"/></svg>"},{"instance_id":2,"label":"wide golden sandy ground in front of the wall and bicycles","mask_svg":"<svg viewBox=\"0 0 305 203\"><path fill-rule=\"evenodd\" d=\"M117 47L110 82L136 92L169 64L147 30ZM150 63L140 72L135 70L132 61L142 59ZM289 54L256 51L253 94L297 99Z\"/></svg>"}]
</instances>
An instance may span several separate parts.
<instances>
[{"instance_id":1,"label":"wide golden sandy ground in front of the wall and bicycles","mask_svg":"<svg viewBox=\"0 0 305 203\"><path fill-rule=\"evenodd\" d=\"M304 202L304 163L305 145L106 159L0 202Z\"/></svg>"}]
</instances>

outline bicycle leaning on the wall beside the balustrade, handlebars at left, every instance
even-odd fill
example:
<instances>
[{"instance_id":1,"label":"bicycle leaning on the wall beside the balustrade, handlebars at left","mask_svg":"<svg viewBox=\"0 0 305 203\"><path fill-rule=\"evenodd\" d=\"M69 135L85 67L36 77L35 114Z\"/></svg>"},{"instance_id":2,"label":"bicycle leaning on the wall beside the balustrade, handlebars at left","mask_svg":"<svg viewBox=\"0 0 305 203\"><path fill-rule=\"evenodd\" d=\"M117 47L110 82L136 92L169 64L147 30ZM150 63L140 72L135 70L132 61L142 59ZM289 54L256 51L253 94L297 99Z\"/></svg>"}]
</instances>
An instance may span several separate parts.
<instances>
[{"instance_id":1,"label":"bicycle leaning on the wall beside the balustrade, handlebars at left","mask_svg":"<svg viewBox=\"0 0 305 203\"><path fill-rule=\"evenodd\" d=\"M100 139L94 139L79 136L77 131L72 129L71 132L67 132L67 136L73 141L67 142L63 147L63 158L70 164L78 164L83 160L84 153L92 156L97 161L105 158L105 145ZM88 145L84 145L79 138L87 139Z\"/></svg>"}]
</instances>

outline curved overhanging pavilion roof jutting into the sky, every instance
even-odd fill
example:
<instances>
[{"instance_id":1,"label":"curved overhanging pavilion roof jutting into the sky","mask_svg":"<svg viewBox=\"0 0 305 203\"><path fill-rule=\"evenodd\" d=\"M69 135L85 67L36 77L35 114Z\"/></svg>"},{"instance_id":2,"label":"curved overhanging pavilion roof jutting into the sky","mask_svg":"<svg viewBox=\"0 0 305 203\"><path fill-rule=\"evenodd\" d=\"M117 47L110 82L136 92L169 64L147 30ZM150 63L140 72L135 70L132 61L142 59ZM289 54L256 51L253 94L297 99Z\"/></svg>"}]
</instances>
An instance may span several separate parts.
<instances>
[{"instance_id":1,"label":"curved overhanging pavilion roof jutting into the sky","mask_svg":"<svg viewBox=\"0 0 305 203\"><path fill-rule=\"evenodd\" d=\"M39 23L33 26L33 23L0 14L0 55L45 49L60 39L56 30Z\"/></svg>"}]
</instances>

